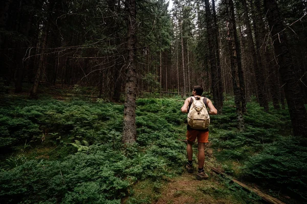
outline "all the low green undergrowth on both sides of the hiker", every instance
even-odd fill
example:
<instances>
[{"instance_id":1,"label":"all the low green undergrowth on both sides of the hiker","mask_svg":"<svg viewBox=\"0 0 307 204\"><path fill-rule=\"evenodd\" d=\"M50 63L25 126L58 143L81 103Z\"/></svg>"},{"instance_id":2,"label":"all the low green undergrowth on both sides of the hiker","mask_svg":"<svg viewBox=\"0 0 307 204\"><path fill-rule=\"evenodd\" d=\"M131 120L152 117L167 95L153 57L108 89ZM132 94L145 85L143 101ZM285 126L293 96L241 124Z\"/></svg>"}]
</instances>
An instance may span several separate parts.
<instances>
[{"instance_id":1,"label":"all the low green undergrowth on both sides of the hiker","mask_svg":"<svg viewBox=\"0 0 307 204\"><path fill-rule=\"evenodd\" d=\"M184 171L182 98L139 98L137 142L130 145L121 142L122 104L49 95L5 95L0 103L0 203L151 203ZM266 113L255 101L247 108L243 132L231 97L223 114L211 117L213 156L227 174L267 186L272 195L305 199L306 149L291 136L288 110ZM209 193L257 199L223 183ZM140 200L135 188L142 185Z\"/></svg>"}]
</instances>

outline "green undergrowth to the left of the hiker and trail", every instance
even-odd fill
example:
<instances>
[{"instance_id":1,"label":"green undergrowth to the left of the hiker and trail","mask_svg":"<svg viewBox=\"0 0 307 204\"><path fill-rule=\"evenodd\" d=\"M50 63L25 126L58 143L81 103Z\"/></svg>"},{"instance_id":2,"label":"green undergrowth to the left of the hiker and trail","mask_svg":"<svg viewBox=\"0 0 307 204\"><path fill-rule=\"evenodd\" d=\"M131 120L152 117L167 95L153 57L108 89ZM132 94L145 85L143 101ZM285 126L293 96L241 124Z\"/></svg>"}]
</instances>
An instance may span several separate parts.
<instances>
[{"instance_id":1,"label":"green undergrowth to the left of the hiker and trail","mask_svg":"<svg viewBox=\"0 0 307 204\"><path fill-rule=\"evenodd\" d=\"M120 203L139 181L183 172L177 99L138 99L137 142L126 146L121 104L48 96L2 104L1 203Z\"/></svg>"}]
</instances>

